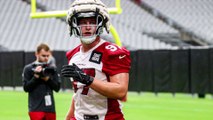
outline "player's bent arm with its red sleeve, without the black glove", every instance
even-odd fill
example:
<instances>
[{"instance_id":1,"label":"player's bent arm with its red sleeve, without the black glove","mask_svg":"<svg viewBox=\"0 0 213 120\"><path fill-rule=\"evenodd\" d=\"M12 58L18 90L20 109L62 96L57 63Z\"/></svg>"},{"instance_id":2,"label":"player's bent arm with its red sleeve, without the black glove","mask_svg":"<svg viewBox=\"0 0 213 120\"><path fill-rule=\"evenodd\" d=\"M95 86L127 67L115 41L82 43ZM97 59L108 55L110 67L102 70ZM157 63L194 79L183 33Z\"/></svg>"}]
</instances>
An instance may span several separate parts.
<instances>
[{"instance_id":1,"label":"player's bent arm with its red sleeve, without the black glove","mask_svg":"<svg viewBox=\"0 0 213 120\"><path fill-rule=\"evenodd\" d=\"M128 91L130 54L122 48L108 45L106 48L104 73L109 75L109 82L94 78L90 88L113 99L123 99Z\"/></svg>"}]
</instances>

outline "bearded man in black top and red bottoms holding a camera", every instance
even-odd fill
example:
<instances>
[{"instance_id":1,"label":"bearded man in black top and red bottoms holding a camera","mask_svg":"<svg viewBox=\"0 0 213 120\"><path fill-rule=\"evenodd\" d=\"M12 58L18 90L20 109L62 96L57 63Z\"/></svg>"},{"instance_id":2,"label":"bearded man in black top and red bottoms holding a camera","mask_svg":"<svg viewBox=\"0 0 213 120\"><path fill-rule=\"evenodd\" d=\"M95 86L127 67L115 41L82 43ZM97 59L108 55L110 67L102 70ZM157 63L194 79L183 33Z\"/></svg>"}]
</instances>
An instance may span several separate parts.
<instances>
[{"instance_id":1,"label":"bearded man in black top and red bottoms holding a camera","mask_svg":"<svg viewBox=\"0 0 213 120\"><path fill-rule=\"evenodd\" d=\"M31 120L56 120L53 90L60 90L56 67L48 66L50 48L40 44L35 52L36 61L24 67L23 87L28 92L28 108Z\"/></svg>"}]
</instances>

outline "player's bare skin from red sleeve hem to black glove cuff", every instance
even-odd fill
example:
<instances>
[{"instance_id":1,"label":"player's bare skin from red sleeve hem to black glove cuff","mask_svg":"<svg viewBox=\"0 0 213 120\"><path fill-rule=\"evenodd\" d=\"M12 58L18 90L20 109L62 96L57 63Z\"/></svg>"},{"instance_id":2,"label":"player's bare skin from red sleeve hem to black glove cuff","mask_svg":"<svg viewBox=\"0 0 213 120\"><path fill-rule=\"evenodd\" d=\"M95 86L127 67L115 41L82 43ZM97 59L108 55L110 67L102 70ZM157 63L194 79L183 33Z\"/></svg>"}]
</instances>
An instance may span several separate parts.
<instances>
[{"instance_id":1,"label":"player's bare skin from red sleeve hem to black glove cuff","mask_svg":"<svg viewBox=\"0 0 213 120\"><path fill-rule=\"evenodd\" d=\"M110 76L110 82L94 79L90 88L113 99L122 100L128 91L129 73L119 73Z\"/></svg>"}]
</instances>

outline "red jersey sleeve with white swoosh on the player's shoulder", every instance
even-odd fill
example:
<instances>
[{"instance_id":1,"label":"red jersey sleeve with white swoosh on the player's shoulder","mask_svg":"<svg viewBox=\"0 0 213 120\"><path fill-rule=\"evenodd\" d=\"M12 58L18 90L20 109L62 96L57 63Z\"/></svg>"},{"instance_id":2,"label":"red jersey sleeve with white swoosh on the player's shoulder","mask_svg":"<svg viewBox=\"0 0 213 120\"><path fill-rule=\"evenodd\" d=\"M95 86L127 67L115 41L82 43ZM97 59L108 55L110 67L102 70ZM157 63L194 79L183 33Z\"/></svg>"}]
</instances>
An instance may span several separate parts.
<instances>
[{"instance_id":1,"label":"red jersey sleeve with white swoosh on the player's shoulder","mask_svg":"<svg viewBox=\"0 0 213 120\"><path fill-rule=\"evenodd\" d=\"M129 73L131 66L130 52L115 45L112 47L115 48L106 49L107 55L105 56L103 71L110 76L118 73Z\"/></svg>"}]
</instances>

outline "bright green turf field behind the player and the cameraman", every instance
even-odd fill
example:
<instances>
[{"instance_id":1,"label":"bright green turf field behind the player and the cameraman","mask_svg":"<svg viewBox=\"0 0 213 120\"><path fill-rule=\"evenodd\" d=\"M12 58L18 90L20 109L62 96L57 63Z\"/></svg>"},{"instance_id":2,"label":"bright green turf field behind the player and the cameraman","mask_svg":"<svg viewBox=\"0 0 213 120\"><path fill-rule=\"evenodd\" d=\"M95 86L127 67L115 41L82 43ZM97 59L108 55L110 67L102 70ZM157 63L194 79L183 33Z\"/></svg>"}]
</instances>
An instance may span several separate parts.
<instances>
[{"instance_id":1,"label":"bright green turf field behind the player and the cameraman","mask_svg":"<svg viewBox=\"0 0 213 120\"><path fill-rule=\"evenodd\" d=\"M64 120L72 92L55 93L57 120ZM126 120L213 120L213 99L186 94L128 93ZM0 120L28 120L27 93L0 91Z\"/></svg>"}]
</instances>

